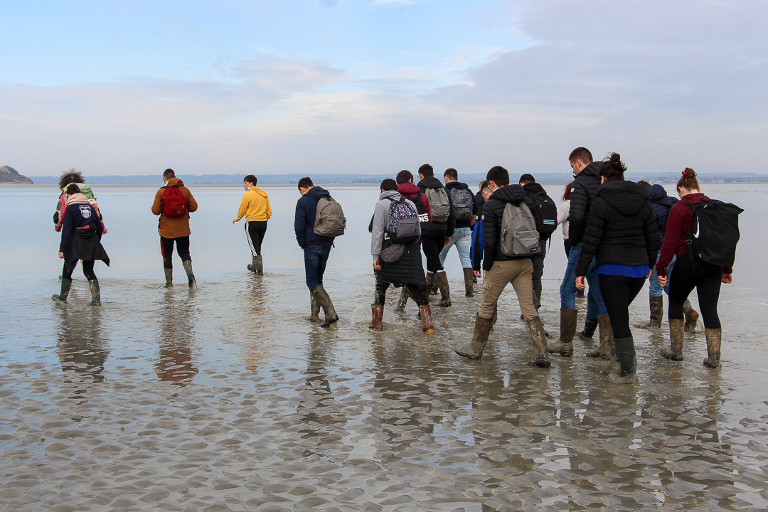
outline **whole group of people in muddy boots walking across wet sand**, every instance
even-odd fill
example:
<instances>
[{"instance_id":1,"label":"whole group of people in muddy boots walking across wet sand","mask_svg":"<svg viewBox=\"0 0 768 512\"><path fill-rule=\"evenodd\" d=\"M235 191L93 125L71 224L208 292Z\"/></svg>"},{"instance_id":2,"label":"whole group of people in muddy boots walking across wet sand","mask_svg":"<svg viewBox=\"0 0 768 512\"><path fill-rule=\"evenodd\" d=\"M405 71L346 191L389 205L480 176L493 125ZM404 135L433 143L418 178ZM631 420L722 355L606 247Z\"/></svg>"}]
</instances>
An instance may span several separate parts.
<instances>
[{"instance_id":1,"label":"whole group of people in muddy boots walking across wet sand","mask_svg":"<svg viewBox=\"0 0 768 512\"><path fill-rule=\"evenodd\" d=\"M626 167L618 154L594 162L591 152L579 147L568 160L574 180L559 208L531 174L523 174L518 183L510 183L508 170L500 166L488 171L477 194L458 181L455 169L445 170L441 182L429 164L419 167L418 183L414 183L408 170L400 171L395 179L383 180L369 224L375 276L369 327L384 329L386 291L392 285L401 289L396 311L404 311L412 299L419 307L423 332L434 333L429 297L439 292L438 305L451 306L443 264L455 246L462 263L465 296L473 296L475 282L483 279L472 340L455 348L458 355L482 357L489 332L498 318L499 296L511 283L521 319L530 332L532 363L547 368L551 365L550 354L570 357L577 329L575 301L578 292L588 284L587 319L579 336L591 339L595 329L600 331L599 347L588 355L611 360L607 367L611 382L636 382L629 306L645 280L650 279L650 322L644 327L660 327L662 289L669 295L670 347L662 350L661 355L683 360L684 331L695 329L698 318L687 300L696 288L707 338L708 356L704 364L717 368L721 339L717 301L720 284L732 282L732 262L726 261L727 256L704 261L701 250L692 249L690 233L691 226L699 222L697 206L702 201L711 202L700 192L694 170L684 170L677 183L680 201L676 201L667 197L660 185L625 180ZM197 282L189 252L189 214L197 210L197 202L173 170L165 170L163 180L164 187L155 195L152 213L159 216L165 286L173 286L172 253L176 246L187 284L194 289ZM100 306L98 279L93 269L96 259L109 264L101 246L101 236L107 229L80 173L65 173L59 185L61 197L54 221L56 230L61 230L59 257L65 263L61 292L52 299L67 301L72 272L81 260L91 289L91 305ZM261 276L261 245L272 209L267 193L257 187L257 177L245 177L243 187L246 193L233 223L245 216L252 256L247 268ZM339 315L323 286L323 274L334 239L346 229L346 218L329 191L315 186L310 177L299 180L298 189L301 197L296 202L294 232L304 253L310 321L328 327L338 322ZM729 211L735 215L741 211L736 206L727 206L732 207ZM538 309L545 251L558 225L563 225L568 266L560 286L560 337L548 345ZM729 264L722 264L723 261ZM324 313L322 320L320 309Z\"/></svg>"}]
</instances>

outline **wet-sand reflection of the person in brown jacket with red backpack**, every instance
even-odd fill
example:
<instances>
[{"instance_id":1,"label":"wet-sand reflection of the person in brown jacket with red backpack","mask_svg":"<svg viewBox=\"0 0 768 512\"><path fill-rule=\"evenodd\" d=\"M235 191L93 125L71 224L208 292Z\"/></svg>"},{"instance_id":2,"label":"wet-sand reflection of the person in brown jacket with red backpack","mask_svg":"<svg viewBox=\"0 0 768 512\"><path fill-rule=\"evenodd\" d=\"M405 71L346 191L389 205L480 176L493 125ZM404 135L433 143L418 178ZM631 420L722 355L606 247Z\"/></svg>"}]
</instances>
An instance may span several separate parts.
<instances>
[{"instance_id":1,"label":"wet-sand reflection of the person in brown jacket with red backpack","mask_svg":"<svg viewBox=\"0 0 768 512\"><path fill-rule=\"evenodd\" d=\"M161 381L182 387L190 384L197 375L192 353L194 315L189 305L176 301L172 289L167 289L159 304L161 319L157 345L160 354L154 371Z\"/></svg>"}]
</instances>

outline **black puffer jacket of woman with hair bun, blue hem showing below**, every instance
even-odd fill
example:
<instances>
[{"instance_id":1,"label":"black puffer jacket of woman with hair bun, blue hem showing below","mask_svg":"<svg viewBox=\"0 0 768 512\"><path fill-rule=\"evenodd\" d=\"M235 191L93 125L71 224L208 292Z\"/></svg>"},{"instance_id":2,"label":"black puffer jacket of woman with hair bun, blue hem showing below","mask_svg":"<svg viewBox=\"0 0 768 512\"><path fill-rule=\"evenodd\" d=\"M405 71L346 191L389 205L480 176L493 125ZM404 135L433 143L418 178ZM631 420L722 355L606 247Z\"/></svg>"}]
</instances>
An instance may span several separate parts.
<instances>
[{"instance_id":1,"label":"black puffer jacket of woman with hair bun, blue hem showing below","mask_svg":"<svg viewBox=\"0 0 768 512\"><path fill-rule=\"evenodd\" d=\"M626 180L607 181L598 188L576 275L587 274L595 255L598 266L651 266L656 263L658 252L659 229L646 188Z\"/></svg>"}]
</instances>

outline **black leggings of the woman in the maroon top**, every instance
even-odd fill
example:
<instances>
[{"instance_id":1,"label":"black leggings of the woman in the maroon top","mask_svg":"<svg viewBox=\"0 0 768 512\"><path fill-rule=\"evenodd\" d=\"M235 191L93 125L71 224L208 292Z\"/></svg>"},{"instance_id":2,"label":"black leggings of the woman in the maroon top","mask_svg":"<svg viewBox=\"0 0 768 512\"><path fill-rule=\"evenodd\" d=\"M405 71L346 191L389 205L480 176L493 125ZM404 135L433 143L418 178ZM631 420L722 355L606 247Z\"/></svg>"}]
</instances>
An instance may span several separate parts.
<instances>
[{"instance_id":1,"label":"black leggings of the woman in the maroon top","mask_svg":"<svg viewBox=\"0 0 768 512\"><path fill-rule=\"evenodd\" d=\"M696 269L690 264L688 253L677 256L670 274L670 319L684 319L683 302L696 288L699 307L704 327L720 329L720 316L717 315L717 300L720 299L720 284L723 279L723 267L710 263L696 262Z\"/></svg>"}]
</instances>

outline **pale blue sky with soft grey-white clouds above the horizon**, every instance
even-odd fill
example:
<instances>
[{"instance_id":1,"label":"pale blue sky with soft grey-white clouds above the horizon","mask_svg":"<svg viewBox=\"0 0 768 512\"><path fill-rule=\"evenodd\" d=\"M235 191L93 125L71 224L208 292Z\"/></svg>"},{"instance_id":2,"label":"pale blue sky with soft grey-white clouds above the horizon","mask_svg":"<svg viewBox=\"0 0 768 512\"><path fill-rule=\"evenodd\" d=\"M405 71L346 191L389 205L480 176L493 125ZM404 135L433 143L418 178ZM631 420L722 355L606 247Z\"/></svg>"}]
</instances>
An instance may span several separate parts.
<instances>
[{"instance_id":1,"label":"pale blue sky with soft grey-white clouds above the horizon","mask_svg":"<svg viewBox=\"0 0 768 512\"><path fill-rule=\"evenodd\" d=\"M768 173L764 0L0 2L27 176Z\"/></svg>"}]
</instances>

